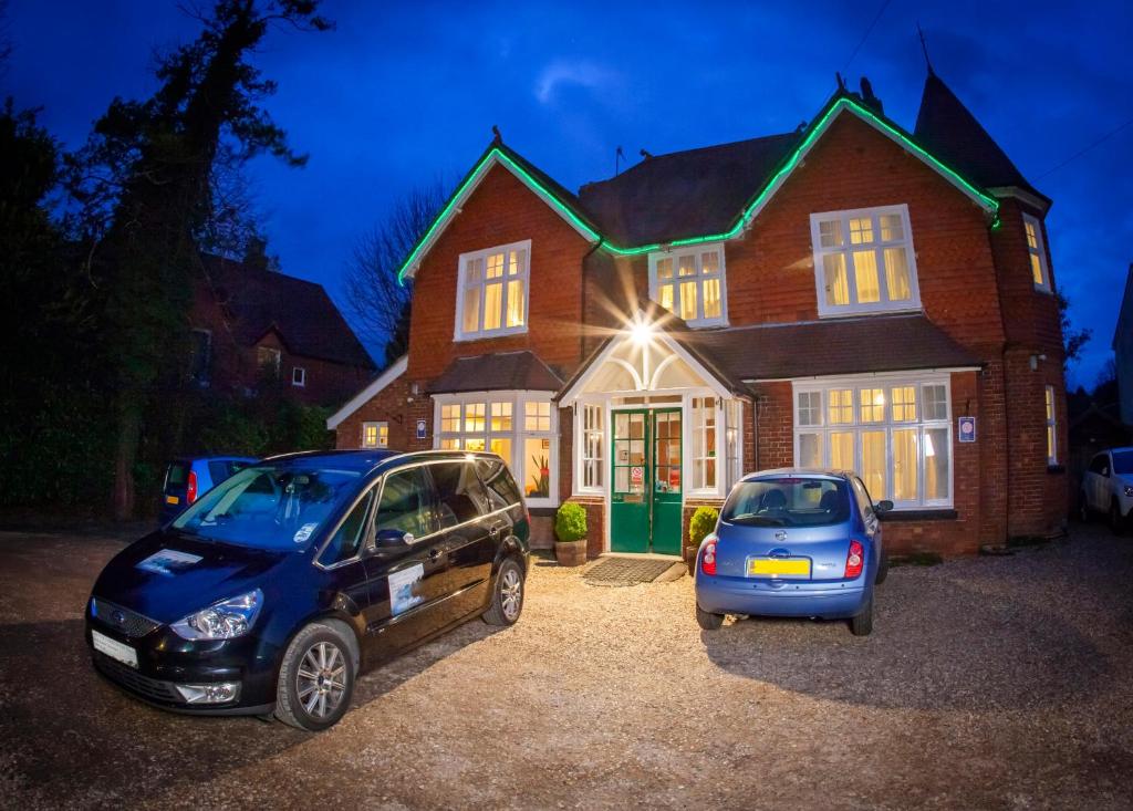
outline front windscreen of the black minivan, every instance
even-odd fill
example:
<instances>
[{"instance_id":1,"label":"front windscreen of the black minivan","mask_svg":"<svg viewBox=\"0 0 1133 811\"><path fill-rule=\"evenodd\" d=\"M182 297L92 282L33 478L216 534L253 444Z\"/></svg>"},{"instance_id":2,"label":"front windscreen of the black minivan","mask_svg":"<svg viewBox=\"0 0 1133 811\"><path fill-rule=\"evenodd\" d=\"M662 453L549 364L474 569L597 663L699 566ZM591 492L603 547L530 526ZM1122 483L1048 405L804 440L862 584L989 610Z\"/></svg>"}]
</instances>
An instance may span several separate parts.
<instances>
[{"instance_id":1,"label":"front windscreen of the black minivan","mask_svg":"<svg viewBox=\"0 0 1133 811\"><path fill-rule=\"evenodd\" d=\"M245 468L181 513L173 529L261 549L304 548L358 481L353 470Z\"/></svg>"}]
</instances>

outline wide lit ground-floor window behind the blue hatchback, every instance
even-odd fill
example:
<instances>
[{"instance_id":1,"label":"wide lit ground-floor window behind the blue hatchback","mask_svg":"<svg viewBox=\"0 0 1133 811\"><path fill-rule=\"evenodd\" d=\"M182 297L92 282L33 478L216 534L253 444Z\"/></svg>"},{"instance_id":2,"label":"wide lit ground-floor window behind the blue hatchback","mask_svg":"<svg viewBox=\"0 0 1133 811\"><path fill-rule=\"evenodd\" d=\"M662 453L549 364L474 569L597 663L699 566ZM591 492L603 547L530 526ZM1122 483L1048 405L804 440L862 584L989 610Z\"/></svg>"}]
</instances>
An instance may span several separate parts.
<instances>
[{"instance_id":1,"label":"wide lit ground-floor window behind the blue hatchback","mask_svg":"<svg viewBox=\"0 0 1133 811\"><path fill-rule=\"evenodd\" d=\"M947 376L794 384L794 460L853 470L875 501L952 505Z\"/></svg>"}]
</instances>

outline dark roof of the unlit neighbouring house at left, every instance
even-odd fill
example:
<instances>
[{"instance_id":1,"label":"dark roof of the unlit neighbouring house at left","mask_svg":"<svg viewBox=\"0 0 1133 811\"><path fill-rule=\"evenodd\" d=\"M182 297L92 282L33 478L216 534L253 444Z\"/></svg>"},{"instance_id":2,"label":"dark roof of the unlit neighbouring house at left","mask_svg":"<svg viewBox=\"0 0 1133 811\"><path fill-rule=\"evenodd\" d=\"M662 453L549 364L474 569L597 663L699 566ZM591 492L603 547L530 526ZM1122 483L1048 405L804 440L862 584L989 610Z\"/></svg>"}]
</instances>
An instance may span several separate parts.
<instances>
[{"instance_id":1,"label":"dark roof of the unlit neighbouring house at left","mask_svg":"<svg viewBox=\"0 0 1133 811\"><path fill-rule=\"evenodd\" d=\"M237 343L253 347L274 330L292 355L374 368L322 284L212 254L201 258L205 283L227 311Z\"/></svg>"}]
</instances>

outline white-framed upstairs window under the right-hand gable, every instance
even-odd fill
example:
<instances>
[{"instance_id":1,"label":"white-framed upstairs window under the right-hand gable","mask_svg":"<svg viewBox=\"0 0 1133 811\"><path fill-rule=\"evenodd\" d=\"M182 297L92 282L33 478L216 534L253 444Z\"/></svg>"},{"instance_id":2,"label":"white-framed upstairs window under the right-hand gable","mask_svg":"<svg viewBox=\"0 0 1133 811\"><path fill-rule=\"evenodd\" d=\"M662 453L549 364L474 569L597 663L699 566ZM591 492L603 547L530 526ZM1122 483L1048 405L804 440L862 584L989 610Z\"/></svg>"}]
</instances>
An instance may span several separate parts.
<instances>
[{"instance_id":1,"label":"white-framed upstairs window under the right-hand gable","mask_svg":"<svg viewBox=\"0 0 1133 811\"><path fill-rule=\"evenodd\" d=\"M810 215L818 315L920 309L909 207Z\"/></svg>"}]
</instances>

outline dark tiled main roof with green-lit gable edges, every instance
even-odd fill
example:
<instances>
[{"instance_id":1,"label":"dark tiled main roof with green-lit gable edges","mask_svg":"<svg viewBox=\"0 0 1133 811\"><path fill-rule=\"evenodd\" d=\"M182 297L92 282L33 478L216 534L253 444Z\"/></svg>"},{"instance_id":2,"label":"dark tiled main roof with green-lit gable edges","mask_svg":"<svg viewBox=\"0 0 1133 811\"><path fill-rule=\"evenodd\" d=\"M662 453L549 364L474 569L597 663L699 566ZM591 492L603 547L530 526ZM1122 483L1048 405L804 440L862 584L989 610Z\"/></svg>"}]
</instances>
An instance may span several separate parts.
<instances>
[{"instance_id":1,"label":"dark tiled main roof with green-lit gable edges","mask_svg":"<svg viewBox=\"0 0 1133 811\"><path fill-rule=\"evenodd\" d=\"M511 171L585 239L614 255L631 256L664 247L733 239L747 229L830 123L844 113L857 116L893 139L997 217L999 203L981 185L934 155L910 133L862 103L855 94L840 89L801 133L662 155L627 170L625 180L621 180L620 176L583 187L580 197L497 139L465 176L433 224L414 246L398 272L398 280L403 283L406 276L412 276L421 258L459 213L463 200L497 164ZM688 177L688 173L706 172L706 167L718 161L731 161L732 171L714 168L700 182ZM659 169L655 171L650 164ZM682 188L692 189L696 197L690 200L687 197L650 196L653 186L659 186L666 195L678 195ZM717 194L723 195L727 205L723 202L717 204L714 197ZM736 205L736 200L743 203ZM681 207L702 211L678 211ZM642 223L640 228L631 222L638 219Z\"/></svg>"}]
</instances>

